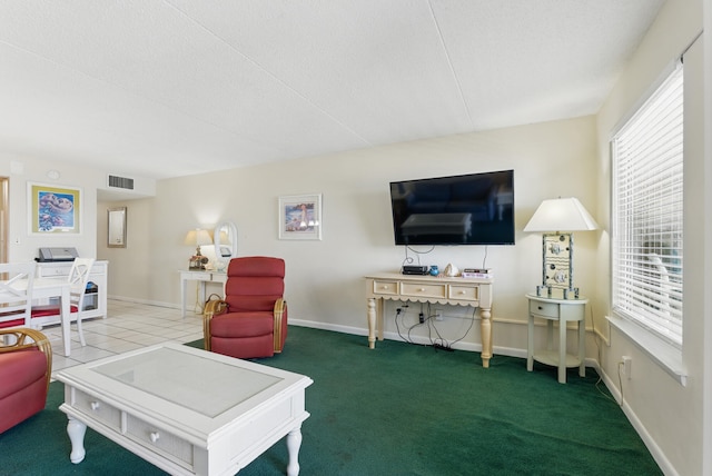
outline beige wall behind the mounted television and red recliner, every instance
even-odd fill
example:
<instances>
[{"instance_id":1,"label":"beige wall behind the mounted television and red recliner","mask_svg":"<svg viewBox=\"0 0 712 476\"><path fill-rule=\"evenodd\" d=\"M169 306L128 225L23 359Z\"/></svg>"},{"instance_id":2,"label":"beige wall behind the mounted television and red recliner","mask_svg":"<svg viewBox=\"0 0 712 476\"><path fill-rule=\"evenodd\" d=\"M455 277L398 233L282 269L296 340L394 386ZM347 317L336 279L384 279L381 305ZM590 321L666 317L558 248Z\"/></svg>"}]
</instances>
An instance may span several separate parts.
<instances>
[{"instance_id":1,"label":"beige wall behind the mounted television and red recliner","mask_svg":"<svg viewBox=\"0 0 712 476\"><path fill-rule=\"evenodd\" d=\"M576 196L595 206L595 121L593 117L458 135L227 170L158 182L155 199L129 201L127 249L99 249L111 266L110 295L175 306L178 269L192 249L182 245L194 227L211 229L229 220L239 230L239 255L273 255L287 261L287 299L291 321L365 334L365 282L374 271L398 271L404 247L394 245L388 182L412 178L515 170L516 245L436 247L421 262L459 268L486 266L496 276L495 347L524 355L526 299L541 279L541 235L522 229L545 198ZM322 241L277 238L277 200L281 195L323 194ZM138 221L137 225L132 225ZM100 227L106 229L106 227ZM136 248L148 232L150 254ZM595 235L576 236L577 285L593 289ZM427 250L427 247L416 249ZM134 251L136 250L136 252ZM134 275L125 271L130 270ZM195 288L190 288L190 303ZM395 305L394 305L395 306ZM393 306L385 330L395 333ZM419 307L406 318L417 319ZM439 326L447 339L462 337L469 313L446 308ZM416 333L425 335L424 333ZM574 336L572 336L573 344ZM478 349L475 325L462 347Z\"/></svg>"}]
</instances>

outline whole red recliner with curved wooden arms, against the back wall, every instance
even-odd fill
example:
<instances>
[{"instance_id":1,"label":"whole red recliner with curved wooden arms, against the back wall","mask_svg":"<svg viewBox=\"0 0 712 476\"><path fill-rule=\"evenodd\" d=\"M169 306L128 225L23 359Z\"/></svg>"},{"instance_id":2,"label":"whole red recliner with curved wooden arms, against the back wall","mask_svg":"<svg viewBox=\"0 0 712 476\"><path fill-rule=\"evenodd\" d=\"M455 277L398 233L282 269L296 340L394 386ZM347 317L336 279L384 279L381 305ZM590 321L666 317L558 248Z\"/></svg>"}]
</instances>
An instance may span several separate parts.
<instances>
[{"instance_id":1,"label":"whole red recliner with curved wooden arms, against the back wall","mask_svg":"<svg viewBox=\"0 0 712 476\"><path fill-rule=\"evenodd\" d=\"M271 357L287 338L285 261L233 258L227 268L224 314L205 316L205 348L237 358Z\"/></svg>"}]
</instances>

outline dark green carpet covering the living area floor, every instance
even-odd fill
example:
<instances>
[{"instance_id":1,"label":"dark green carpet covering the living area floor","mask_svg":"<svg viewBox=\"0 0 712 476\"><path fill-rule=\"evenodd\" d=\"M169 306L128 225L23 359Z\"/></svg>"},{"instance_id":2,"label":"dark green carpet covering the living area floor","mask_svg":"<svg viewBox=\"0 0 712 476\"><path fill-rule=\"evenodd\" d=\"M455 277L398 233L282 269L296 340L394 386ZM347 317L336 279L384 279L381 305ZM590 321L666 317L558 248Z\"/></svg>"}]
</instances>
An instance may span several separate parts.
<instances>
[{"instance_id":1,"label":"dark green carpet covering the living area floor","mask_svg":"<svg viewBox=\"0 0 712 476\"><path fill-rule=\"evenodd\" d=\"M257 361L314 379L301 475L662 474L592 369L561 385L555 368L527 373L521 358L484 369L476 353L389 340L369 350L365 337L294 326L281 355ZM0 474L164 474L91 429L72 465L62 391L51 384L47 409L0 435ZM239 475L284 475L286 462L280 442Z\"/></svg>"}]
</instances>

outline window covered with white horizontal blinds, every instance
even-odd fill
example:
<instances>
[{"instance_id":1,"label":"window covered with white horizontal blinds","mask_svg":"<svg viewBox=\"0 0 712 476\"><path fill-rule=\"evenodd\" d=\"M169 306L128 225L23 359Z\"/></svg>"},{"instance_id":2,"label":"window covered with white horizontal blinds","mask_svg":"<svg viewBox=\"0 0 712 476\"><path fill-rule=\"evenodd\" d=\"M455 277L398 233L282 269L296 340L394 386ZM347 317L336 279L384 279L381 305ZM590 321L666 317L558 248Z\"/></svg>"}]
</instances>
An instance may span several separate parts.
<instances>
[{"instance_id":1,"label":"window covered with white horizontal blinds","mask_svg":"<svg viewBox=\"0 0 712 476\"><path fill-rule=\"evenodd\" d=\"M613 311L682 347L683 67L612 142Z\"/></svg>"}]
</instances>

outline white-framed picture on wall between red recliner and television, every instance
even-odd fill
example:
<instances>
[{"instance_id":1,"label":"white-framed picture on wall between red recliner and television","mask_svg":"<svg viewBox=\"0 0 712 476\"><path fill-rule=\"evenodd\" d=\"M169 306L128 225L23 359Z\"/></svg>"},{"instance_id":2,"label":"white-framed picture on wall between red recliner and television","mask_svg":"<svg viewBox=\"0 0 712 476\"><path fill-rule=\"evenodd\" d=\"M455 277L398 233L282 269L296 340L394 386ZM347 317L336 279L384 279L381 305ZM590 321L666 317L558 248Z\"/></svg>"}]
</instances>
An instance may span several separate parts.
<instances>
[{"instance_id":1,"label":"white-framed picture on wall between red recliner and television","mask_svg":"<svg viewBox=\"0 0 712 476\"><path fill-rule=\"evenodd\" d=\"M322 239L322 194L279 197L279 239Z\"/></svg>"}]
</instances>

